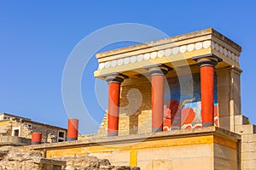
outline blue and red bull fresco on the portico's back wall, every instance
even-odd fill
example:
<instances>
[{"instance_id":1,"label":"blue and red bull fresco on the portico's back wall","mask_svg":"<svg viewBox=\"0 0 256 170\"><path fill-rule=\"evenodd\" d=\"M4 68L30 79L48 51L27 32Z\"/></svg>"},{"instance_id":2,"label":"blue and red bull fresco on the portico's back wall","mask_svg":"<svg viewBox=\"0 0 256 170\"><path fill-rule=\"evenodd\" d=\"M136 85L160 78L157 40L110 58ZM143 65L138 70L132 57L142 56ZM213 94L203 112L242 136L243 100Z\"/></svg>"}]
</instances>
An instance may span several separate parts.
<instances>
[{"instance_id":1,"label":"blue and red bull fresco on the portico's back wall","mask_svg":"<svg viewBox=\"0 0 256 170\"><path fill-rule=\"evenodd\" d=\"M167 79L164 131L202 127L200 74ZM218 126L217 79L214 80L214 124Z\"/></svg>"}]
</instances>

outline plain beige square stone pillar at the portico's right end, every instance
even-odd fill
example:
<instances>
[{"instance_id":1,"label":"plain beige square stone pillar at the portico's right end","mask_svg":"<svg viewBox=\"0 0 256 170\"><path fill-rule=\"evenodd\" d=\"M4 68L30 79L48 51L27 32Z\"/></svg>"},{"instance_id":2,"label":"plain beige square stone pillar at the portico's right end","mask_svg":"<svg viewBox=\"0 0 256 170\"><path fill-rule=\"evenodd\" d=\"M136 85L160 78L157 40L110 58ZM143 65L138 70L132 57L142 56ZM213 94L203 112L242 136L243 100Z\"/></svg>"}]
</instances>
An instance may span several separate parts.
<instances>
[{"instance_id":1,"label":"plain beige square stone pillar at the portico's right end","mask_svg":"<svg viewBox=\"0 0 256 170\"><path fill-rule=\"evenodd\" d=\"M236 116L241 115L241 70L234 65L218 69L218 121L219 127L235 132ZM240 120L240 119L239 119ZM242 121L241 121L242 122Z\"/></svg>"}]
</instances>

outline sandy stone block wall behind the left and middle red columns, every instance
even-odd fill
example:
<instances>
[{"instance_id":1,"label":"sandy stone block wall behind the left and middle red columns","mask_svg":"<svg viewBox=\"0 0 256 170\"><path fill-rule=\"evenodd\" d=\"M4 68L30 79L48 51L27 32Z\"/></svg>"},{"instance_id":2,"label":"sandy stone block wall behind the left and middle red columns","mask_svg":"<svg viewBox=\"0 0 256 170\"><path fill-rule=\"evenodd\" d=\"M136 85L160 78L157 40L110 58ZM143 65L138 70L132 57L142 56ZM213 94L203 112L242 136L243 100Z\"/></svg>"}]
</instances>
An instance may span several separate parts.
<instances>
[{"instance_id":1,"label":"sandy stone block wall behind the left and middle red columns","mask_svg":"<svg viewBox=\"0 0 256 170\"><path fill-rule=\"evenodd\" d=\"M147 77L123 82L120 94L119 136L151 133L151 84ZM97 135L108 135L108 111Z\"/></svg>"}]
</instances>

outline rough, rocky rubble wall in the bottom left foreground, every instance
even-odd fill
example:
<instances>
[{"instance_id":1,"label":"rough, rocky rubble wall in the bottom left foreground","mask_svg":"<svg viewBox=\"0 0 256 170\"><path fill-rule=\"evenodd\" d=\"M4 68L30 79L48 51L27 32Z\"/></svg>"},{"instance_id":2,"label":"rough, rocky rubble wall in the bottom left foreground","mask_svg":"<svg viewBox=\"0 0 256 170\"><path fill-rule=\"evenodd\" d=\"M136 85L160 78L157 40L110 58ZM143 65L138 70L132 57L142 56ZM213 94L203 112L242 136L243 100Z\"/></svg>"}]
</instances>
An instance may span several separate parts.
<instances>
[{"instance_id":1,"label":"rough, rocky rubble wall in the bottom left foreground","mask_svg":"<svg viewBox=\"0 0 256 170\"><path fill-rule=\"evenodd\" d=\"M96 156L61 156L44 158L40 151L3 146L0 148L0 170L139 170L139 167L112 166L108 159Z\"/></svg>"}]
</instances>

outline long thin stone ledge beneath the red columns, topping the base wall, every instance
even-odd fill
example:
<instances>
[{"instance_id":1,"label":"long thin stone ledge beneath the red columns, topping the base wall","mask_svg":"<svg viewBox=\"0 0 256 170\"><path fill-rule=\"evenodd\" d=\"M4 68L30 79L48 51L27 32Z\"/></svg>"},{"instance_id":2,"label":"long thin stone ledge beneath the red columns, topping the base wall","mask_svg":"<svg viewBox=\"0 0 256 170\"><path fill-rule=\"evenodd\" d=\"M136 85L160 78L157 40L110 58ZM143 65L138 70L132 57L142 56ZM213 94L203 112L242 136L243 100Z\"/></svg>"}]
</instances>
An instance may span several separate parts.
<instances>
[{"instance_id":1,"label":"long thin stone ledge beneath the red columns, topping the base wall","mask_svg":"<svg viewBox=\"0 0 256 170\"><path fill-rule=\"evenodd\" d=\"M84 146L94 145L112 145L112 144L129 144L136 143L139 141L155 141L161 139L180 139L188 137L200 137L214 135L222 137L224 139L230 139L238 141L241 136L236 133L224 130L219 127L199 127L193 129L179 129L168 132L158 133L144 133L144 134L133 134L129 136L115 136L115 137L96 137L90 136L87 139L79 141L66 141L54 144L34 144L26 146L32 150L54 150L54 149L65 149L65 148L76 148Z\"/></svg>"}]
</instances>

